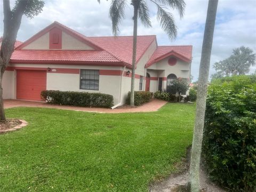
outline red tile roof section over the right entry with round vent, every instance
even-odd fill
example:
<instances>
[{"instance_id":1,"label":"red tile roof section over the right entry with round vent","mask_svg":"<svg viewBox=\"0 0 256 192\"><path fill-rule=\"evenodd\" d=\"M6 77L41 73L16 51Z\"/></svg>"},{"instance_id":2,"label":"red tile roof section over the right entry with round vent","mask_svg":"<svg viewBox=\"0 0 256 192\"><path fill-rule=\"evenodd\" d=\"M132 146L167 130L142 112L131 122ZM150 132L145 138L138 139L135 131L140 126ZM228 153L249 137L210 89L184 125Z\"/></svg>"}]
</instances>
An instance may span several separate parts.
<instances>
[{"instance_id":1,"label":"red tile roof section over the right entry with round vent","mask_svg":"<svg viewBox=\"0 0 256 192\"><path fill-rule=\"evenodd\" d=\"M166 57L174 56L185 62L192 60L192 46L191 45L177 45L177 46L158 46L155 53L149 59L146 67L153 65Z\"/></svg>"}]
</instances>

